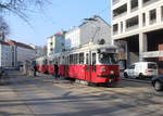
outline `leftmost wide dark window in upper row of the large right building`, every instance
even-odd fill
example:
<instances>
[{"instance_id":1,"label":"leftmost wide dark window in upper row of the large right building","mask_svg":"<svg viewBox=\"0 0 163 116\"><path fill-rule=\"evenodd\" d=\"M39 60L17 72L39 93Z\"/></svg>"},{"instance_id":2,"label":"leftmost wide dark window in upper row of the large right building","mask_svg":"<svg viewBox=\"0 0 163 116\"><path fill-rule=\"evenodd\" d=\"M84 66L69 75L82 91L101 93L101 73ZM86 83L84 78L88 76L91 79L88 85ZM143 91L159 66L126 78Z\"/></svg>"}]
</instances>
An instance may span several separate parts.
<instances>
[{"instance_id":1,"label":"leftmost wide dark window in upper row of the large right building","mask_svg":"<svg viewBox=\"0 0 163 116\"><path fill-rule=\"evenodd\" d=\"M125 12L127 12L127 3L122 5L122 7L120 7L120 8L117 8L117 9L115 9L115 10L113 10L113 16L115 17L115 16L117 16L120 14L125 13Z\"/></svg>"}]
</instances>

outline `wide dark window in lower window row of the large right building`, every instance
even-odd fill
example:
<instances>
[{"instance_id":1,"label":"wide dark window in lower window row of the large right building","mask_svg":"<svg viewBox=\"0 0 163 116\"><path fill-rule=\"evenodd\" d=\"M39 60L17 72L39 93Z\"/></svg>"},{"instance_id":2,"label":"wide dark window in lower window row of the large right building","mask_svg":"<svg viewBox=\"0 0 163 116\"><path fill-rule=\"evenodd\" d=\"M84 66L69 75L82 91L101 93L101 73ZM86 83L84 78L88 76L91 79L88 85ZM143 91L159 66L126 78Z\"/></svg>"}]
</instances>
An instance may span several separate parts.
<instances>
[{"instance_id":1,"label":"wide dark window in lower window row of the large right building","mask_svg":"<svg viewBox=\"0 0 163 116\"><path fill-rule=\"evenodd\" d=\"M139 24L139 18L138 18L138 16L131 17L131 18L129 18L129 20L126 21L126 28L136 26L136 25L138 25L138 24Z\"/></svg>"}]
</instances>

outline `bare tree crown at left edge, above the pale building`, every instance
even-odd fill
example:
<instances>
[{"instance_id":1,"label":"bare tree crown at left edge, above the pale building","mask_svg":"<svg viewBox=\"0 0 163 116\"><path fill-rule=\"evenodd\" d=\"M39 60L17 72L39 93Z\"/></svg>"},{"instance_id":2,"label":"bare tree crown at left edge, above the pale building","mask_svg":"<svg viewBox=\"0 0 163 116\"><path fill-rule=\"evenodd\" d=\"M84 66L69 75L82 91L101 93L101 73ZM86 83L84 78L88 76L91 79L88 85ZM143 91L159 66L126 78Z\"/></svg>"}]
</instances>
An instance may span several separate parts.
<instances>
[{"instance_id":1,"label":"bare tree crown at left edge, above the pale building","mask_svg":"<svg viewBox=\"0 0 163 116\"><path fill-rule=\"evenodd\" d=\"M9 35L9 25L4 22L3 17L0 16L0 39L4 40L5 36Z\"/></svg>"}]
</instances>

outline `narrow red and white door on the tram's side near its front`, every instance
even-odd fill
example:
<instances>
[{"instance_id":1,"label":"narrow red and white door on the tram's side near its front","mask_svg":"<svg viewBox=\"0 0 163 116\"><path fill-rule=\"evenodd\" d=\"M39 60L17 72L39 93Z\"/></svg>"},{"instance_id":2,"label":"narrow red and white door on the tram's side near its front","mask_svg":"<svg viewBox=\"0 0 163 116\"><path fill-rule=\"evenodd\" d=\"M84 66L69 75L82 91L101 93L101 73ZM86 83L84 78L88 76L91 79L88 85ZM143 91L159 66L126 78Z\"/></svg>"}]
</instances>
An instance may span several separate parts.
<instances>
[{"instance_id":1,"label":"narrow red and white door on the tram's side near its front","mask_svg":"<svg viewBox=\"0 0 163 116\"><path fill-rule=\"evenodd\" d=\"M85 78L87 81L91 81L91 52L86 53L86 68Z\"/></svg>"}]
</instances>

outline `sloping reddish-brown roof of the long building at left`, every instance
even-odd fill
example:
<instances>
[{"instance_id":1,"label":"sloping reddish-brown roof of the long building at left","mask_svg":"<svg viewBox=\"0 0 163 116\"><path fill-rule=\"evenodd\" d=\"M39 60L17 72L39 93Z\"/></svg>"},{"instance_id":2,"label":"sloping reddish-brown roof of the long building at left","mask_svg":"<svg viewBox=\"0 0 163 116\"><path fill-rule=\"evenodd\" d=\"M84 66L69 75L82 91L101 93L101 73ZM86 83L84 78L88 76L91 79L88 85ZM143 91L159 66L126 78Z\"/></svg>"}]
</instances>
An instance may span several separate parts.
<instances>
[{"instance_id":1,"label":"sloping reddish-brown roof of the long building at left","mask_svg":"<svg viewBox=\"0 0 163 116\"><path fill-rule=\"evenodd\" d=\"M30 46L25 44L25 43L22 43L22 42L16 42L16 41L14 41L14 40L7 40L5 42L7 42L8 44L10 44L10 46L16 46L16 47L21 47L21 48L24 48L24 49L34 50L34 48L32 48Z\"/></svg>"}]
</instances>

